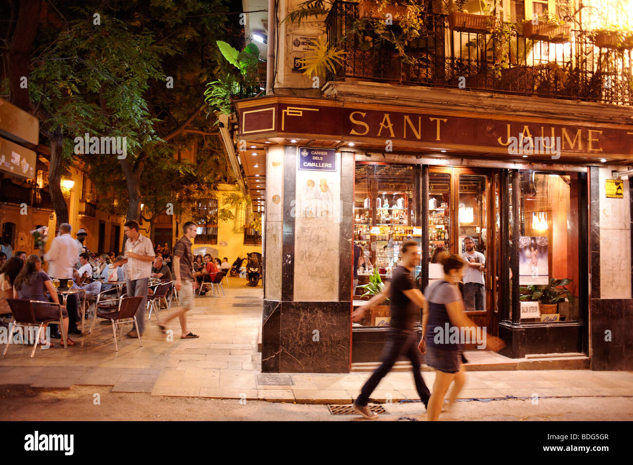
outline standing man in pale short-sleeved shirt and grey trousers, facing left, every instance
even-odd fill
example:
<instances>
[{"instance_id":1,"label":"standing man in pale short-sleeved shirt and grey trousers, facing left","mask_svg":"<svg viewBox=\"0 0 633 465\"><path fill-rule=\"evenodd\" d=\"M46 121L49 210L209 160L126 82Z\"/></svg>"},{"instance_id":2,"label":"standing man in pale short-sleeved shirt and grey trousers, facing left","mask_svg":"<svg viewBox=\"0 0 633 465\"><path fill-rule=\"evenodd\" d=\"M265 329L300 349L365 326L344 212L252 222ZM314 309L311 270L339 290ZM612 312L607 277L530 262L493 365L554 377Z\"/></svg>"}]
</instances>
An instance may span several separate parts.
<instances>
[{"instance_id":1,"label":"standing man in pale short-sleeved shirt and grey trousers, facing left","mask_svg":"<svg viewBox=\"0 0 633 465\"><path fill-rule=\"evenodd\" d=\"M145 326L145 306L147 302L147 287L149 285L149 276L152 272L152 263L154 262L154 246L152 241L139 233L139 223L134 220L127 221L123 225L125 235L128 237L125 242L125 254L121 261L113 263L113 266L122 266L127 263L127 295L141 296L143 301L136 311L136 325L143 335ZM128 337L138 337L137 333L132 330L127 333Z\"/></svg>"}]
</instances>

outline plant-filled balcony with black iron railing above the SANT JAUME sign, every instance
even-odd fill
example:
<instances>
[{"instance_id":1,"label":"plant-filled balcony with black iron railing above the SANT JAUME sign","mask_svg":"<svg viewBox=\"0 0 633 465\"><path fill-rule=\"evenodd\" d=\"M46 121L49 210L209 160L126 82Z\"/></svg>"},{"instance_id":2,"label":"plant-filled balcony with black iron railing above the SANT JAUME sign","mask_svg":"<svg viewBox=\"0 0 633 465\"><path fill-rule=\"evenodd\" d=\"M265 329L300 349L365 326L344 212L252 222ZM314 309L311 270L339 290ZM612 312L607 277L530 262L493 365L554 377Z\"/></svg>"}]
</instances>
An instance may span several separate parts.
<instances>
[{"instance_id":1,"label":"plant-filled balcony with black iron railing above the SANT JAUME sign","mask_svg":"<svg viewBox=\"0 0 633 465\"><path fill-rule=\"evenodd\" d=\"M357 3L332 6L327 38L346 53L327 80L360 78L620 105L633 101L632 51L598 48L585 30L571 30L563 42L529 39L510 24L506 34L475 34L451 30L447 15L426 13L426 30L402 55L371 30L356 34L359 19Z\"/></svg>"}]
</instances>

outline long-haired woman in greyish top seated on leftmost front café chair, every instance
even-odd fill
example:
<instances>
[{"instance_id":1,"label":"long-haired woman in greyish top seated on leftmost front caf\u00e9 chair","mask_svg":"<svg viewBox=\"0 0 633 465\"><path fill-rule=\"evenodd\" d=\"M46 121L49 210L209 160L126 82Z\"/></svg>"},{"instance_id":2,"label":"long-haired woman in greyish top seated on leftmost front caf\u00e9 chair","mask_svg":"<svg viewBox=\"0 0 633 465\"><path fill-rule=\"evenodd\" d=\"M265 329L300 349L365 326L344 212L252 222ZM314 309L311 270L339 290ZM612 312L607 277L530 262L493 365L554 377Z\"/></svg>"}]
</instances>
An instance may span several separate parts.
<instances>
[{"instance_id":1,"label":"long-haired woman in greyish top seated on leftmost front caf\u00e9 chair","mask_svg":"<svg viewBox=\"0 0 633 465\"><path fill-rule=\"evenodd\" d=\"M51 282L51 278L42 271L42 260L35 254L27 257L27 261L24 263L20 274L15 278L13 282L13 298L14 299L27 299L29 301L47 302L46 291L51 295L51 301L59 304L60 301L57 297L57 291ZM33 311L35 318L37 319L49 319L60 316L60 309L57 306L49 304L33 304ZM61 307L61 314L63 316L63 325L66 331L66 344L75 345L75 342L68 337L68 312L66 307ZM44 326L46 328L46 326ZM46 344L46 332L44 333L44 340L41 340L42 344ZM61 345L64 343L61 342ZM53 343L51 342L51 347Z\"/></svg>"}]
</instances>

